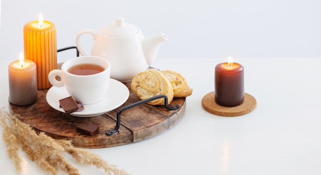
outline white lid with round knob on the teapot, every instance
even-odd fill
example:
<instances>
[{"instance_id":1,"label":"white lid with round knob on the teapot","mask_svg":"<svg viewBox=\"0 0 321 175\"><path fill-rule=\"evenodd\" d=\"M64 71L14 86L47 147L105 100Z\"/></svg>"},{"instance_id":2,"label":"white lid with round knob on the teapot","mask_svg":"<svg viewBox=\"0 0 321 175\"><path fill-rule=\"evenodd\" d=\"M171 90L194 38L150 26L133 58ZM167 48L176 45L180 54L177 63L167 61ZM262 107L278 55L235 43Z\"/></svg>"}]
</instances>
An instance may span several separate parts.
<instances>
[{"instance_id":1,"label":"white lid with round knob on the teapot","mask_svg":"<svg viewBox=\"0 0 321 175\"><path fill-rule=\"evenodd\" d=\"M117 17L115 24L104 26L101 32L110 37L128 37L136 34L138 28L134 25L125 23L124 17Z\"/></svg>"}]
</instances>

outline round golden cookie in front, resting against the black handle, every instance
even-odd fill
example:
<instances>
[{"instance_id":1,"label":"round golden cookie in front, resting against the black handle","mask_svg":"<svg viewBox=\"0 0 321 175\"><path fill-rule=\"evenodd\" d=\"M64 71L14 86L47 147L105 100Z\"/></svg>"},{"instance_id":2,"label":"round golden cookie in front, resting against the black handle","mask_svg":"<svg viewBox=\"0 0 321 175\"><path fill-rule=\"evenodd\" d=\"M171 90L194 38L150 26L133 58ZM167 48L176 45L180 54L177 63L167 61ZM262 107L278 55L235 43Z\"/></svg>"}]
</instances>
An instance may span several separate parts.
<instances>
[{"instance_id":1,"label":"round golden cookie in front, resting against the black handle","mask_svg":"<svg viewBox=\"0 0 321 175\"><path fill-rule=\"evenodd\" d=\"M131 82L131 89L141 100L162 94L168 97L168 103L173 100L174 94L171 83L157 69L149 69L135 75ZM164 100L164 98L160 98L150 101L148 104L164 105Z\"/></svg>"}]
</instances>

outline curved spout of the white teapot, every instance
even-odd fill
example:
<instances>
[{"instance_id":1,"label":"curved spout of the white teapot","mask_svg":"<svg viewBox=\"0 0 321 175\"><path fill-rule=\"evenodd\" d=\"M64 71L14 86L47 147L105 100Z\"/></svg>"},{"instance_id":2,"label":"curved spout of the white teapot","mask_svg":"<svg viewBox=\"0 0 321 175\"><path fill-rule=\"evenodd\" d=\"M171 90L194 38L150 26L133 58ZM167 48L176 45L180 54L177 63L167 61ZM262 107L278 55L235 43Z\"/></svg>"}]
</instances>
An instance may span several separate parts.
<instances>
[{"instance_id":1,"label":"curved spout of the white teapot","mask_svg":"<svg viewBox=\"0 0 321 175\"><path fill-rule=\"evenodd\" d=\"M143 40L143 51L148 65L151 65L157 55L160 43L167 40L165 33L145 37Z\"/></svg>"}]
</instances>

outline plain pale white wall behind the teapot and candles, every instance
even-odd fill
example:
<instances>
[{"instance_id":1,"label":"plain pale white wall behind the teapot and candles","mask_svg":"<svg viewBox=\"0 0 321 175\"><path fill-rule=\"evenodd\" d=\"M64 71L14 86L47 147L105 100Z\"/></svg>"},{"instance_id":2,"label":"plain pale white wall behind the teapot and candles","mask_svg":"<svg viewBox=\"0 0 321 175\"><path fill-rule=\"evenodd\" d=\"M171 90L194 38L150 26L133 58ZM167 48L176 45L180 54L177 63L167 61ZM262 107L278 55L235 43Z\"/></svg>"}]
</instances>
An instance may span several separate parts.
<instances>
[{"instance_id":1,"label":"plain pale white wall behind the teapot and candles","mask_svg":"<svg viewBox=\"0 0 321 175\"><path fill-rule=\"evenodd\" d=\"M321 57L320 0L2 0L1 8L0 59L23 51L23 26L39 12L56 24L58 49L124 16L145 36L168 35L157 58ZM83 40L90 52L92 39Z\"/></svg>"}]
</instances>

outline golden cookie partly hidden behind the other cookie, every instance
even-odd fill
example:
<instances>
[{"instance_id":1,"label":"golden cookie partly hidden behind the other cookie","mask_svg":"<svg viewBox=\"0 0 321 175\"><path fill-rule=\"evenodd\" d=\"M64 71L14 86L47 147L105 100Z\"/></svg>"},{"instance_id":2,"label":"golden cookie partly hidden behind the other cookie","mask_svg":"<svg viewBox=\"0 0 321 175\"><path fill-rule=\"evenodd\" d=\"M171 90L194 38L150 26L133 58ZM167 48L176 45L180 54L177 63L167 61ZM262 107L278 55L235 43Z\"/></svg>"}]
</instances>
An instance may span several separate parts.
<instances>
[{"instance_id":1,"label":"golden cookie partly hidden behind the other cookie","mask_svg":"<svg viewBox=\"0 0 321 175\"><path fill-rule=\"evenodd\" d=\"M165 75L173 87L174 97L187 97L192 94L192 89L188 86L185 77L175 71L160 71Z\"/></svg>"}]
</instances>

